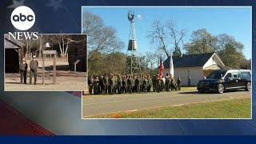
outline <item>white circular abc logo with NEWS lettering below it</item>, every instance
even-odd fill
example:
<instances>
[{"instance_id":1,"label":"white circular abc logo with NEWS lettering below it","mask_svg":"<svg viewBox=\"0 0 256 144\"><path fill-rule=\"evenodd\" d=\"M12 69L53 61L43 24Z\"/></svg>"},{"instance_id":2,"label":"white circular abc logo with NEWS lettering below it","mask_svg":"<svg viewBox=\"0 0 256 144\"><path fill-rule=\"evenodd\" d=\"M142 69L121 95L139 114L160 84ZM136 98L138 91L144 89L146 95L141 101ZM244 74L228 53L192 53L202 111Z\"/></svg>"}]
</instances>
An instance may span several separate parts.
<instances>
[{"instance_id":1,"label":"white circular abc logo with NEWS lettering below it","mask_svg":"<svg viewBox=\"0 0 256 144\"><path fill-rule=\"evenodd\" d=\"M18 6L10 15L12 25L18 30L29 30L34 26L35 15L34 11L27 6ZM9 38L13 37L17 40L23 39L38 39L38 32L8 32Z\"/></svg>"}]
</instances>

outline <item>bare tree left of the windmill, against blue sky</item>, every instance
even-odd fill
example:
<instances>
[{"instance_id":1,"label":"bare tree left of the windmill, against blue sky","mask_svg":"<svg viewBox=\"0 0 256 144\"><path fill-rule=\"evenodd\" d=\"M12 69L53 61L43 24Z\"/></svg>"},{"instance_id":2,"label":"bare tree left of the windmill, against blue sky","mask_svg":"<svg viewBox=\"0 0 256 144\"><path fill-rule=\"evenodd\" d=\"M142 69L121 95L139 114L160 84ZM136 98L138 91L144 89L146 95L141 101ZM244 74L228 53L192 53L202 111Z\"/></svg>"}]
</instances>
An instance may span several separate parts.
<instances>
[{"instance_id":1,"label":"bare tree left of the windmill, against blue sky","mask_svg":"<svg viewBox=\"0 0 256 144\"><path fill-rule=\"evenodd\" d=\"M88 35L88 51L98 51L109 54L124 47L124 43L116 36L116 31L111 26L105 26L102 18L88 11L82 14L82 32ZM94 54L89 55L92 61Z\"/></svg>"}]
</instances>

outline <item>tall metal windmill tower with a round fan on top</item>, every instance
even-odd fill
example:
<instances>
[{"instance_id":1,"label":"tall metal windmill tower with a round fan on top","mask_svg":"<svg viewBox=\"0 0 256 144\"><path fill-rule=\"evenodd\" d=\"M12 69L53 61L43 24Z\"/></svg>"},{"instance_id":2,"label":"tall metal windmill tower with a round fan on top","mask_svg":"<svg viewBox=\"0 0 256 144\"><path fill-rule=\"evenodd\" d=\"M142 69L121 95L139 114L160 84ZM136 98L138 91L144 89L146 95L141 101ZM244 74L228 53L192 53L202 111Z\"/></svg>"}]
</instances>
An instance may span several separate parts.
<instances>
[{"instance_id":1,"label":"tall metal windmill tower with a round fan on top","mask_svg":"<svg viewBox=\"0 0 256 144\"><path fill-rule=\"evenodd\" d=\"M129 66L129 74L140 74L141 66L140 59L138 57L138 45L135 34L135 24L134 24L134 11L129 10L128 12L128 20L130 21L130 34L129 34L129 43L127 49L128 61L127 64ZM137 16L141 18L141 15Z\"/></svg>"}]
</instances>

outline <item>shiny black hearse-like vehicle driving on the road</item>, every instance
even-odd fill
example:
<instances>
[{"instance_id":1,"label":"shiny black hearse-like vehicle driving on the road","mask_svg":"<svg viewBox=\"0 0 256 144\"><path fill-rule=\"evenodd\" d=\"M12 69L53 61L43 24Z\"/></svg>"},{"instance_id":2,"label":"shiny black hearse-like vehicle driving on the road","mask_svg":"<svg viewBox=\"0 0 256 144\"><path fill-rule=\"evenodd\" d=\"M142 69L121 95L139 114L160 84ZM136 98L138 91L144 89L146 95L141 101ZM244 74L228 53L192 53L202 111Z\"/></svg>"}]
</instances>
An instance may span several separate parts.
<instances>
[{"instance_id":1,"label":"shiny black hearse-like vehicle driving on the road","mask_svg":"<svg viewBox=\"0 0 256 144\"><path fill-rule=\"evenodd\" d=\"M214 70L205 79L198 82L198 91L213 91L222 94L226 90L251 88L250 70Z\"/></svg>"}]
</instances>

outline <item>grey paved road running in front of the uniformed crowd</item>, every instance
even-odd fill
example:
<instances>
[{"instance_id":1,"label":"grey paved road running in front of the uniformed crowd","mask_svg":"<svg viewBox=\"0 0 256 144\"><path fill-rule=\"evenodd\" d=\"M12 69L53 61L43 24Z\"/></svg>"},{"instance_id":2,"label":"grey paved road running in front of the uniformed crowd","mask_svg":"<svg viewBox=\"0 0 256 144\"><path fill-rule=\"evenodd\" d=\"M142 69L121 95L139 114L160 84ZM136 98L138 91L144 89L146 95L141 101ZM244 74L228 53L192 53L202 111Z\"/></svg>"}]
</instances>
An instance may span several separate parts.
<instances>
[{"instance_id":1,"label":"grey paved road running in front of the uniformed crowd","mask_svg":"<svg viewBox=\"0 0 256 144\"><path fill-rule=\"evenodd\" d=\"M150 94L90 95L82 98L83 118L126 110L140 110L161 106L178 106L194 102L214 102L233 98L250 98L244 90L224 94L198 94L197 91L182 91Z\"/></svg>"}]
</instances>

